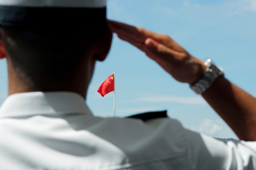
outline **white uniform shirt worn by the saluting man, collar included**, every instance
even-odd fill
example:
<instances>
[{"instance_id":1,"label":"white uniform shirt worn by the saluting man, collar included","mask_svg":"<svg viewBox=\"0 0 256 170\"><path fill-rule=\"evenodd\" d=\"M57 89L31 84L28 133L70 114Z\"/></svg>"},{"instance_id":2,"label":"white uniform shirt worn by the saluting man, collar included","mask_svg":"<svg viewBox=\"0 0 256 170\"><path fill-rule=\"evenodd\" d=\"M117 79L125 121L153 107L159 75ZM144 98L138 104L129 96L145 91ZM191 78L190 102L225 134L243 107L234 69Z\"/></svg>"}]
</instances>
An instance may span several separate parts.
<instances>
[{"instance_id":1,"label":"white uniform shirt worn by the saluting man, collar included","mask_svg":"<svg viewBox=\"0 0 256 170\"><path fill-rule=\"evenodd\" d=\"M18 93L0 109L1 170L251 170L255 152L170 118L94 117L72 92Z\"/></svg>"}]
</instances>

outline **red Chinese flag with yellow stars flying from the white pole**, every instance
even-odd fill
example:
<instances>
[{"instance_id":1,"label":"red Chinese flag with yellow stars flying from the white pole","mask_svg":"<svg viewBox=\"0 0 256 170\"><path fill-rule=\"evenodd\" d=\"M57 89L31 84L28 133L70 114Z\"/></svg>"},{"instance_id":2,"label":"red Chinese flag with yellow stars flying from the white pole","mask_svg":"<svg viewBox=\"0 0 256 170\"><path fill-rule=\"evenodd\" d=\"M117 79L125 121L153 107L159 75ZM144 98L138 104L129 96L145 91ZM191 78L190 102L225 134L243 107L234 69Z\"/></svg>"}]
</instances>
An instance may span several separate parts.
<instances>
[{"instance_id":1,"label":"red Chinese flag with yellow stars flying from the white pole","mask_svg":"<svg viewBox=\"0 0 256 170\"><path fill-rule=\"evenodd\" d=\"M114 91L114 81L114 74L112 74L105 81L103 81L102 84L100 84L98 92L102 97L104 97L109 92Z\"/></svg>"}]
</instances>

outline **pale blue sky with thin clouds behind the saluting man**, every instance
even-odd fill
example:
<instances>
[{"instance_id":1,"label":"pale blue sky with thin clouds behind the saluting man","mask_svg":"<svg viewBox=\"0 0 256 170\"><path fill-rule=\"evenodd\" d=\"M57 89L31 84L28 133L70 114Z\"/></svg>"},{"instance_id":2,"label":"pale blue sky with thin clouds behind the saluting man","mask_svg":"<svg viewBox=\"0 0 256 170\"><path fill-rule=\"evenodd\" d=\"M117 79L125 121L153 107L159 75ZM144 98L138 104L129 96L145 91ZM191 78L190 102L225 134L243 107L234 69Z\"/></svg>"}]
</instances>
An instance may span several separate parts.
<instances>
[{"instance_id":1,"label":"pale blue sky with thin clouds behind the saluting man","mask_svg":"<svg viewBox=\"0 0 256 170\"><path fill-rule=\"evenodd\" d=\"M201 60L211 58L225 77L256 96L255 0L109 0L107 16L168 34ZM115 72L116 116L167 110L191 130L220 138L238 137L188 84L175 81L154 61L114 35L107 59L96 64L87 104L96 116L113 117L113 92L99 85ZM0 102L8 92L7 65L0 61ZM232 117L232 113L230 113Z\"/></svg>"}]
</instances>

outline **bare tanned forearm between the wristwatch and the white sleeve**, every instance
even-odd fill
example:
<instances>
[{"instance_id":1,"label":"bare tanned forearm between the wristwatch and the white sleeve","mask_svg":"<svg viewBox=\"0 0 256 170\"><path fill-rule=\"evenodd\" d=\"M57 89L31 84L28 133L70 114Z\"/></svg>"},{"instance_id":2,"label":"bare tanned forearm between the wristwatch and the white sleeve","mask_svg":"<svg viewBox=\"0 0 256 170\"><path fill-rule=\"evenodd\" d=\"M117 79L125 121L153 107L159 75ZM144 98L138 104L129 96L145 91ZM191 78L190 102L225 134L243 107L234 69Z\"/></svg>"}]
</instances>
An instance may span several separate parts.
<instances>
[{"instance_id":1,"label":"bare tanned forearm between the wristwatch and the white sleeve","mask_svg":"<svg viewBox=\"0 0 256 170\"><path fill-rule=\"evenodd\" d=\"M256 99L224 77L202 94L240 140L256 141Z\"/></svg>"}]
</instances>

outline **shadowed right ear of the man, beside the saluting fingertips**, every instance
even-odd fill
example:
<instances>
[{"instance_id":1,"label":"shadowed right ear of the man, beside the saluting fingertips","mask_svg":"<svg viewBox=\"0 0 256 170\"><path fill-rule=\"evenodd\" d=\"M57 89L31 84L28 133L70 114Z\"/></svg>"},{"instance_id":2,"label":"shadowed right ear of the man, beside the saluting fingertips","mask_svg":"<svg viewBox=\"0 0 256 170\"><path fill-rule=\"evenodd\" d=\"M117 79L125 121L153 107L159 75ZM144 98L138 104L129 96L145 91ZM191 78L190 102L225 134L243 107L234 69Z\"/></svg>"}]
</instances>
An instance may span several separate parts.
<instances>
[{"instance_id":1,"label":"shadowed right ear of the man, beside the saluting fingertips","mask_svg":"<svg viewBox=\"0 0 256 170\"><path fill-rule=\"evenodd\" d=\"M98 61L105 60L111 47L113 37L112 26L107 23L106 29L95 42L94 58Z\"/></svg>"}]
</instances>

